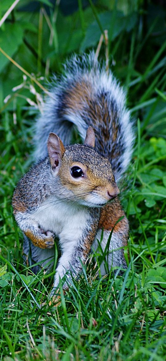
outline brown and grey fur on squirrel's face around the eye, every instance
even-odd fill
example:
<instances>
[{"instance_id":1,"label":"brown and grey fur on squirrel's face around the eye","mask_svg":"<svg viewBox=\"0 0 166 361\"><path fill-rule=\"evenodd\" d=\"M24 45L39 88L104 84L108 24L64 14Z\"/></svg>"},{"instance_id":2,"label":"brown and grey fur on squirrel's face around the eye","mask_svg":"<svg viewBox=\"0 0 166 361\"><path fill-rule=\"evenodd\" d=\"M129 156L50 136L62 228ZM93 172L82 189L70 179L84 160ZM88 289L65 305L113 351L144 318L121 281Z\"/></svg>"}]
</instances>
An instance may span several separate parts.
<instances>
[{"instance_id":1,"label":"brown and grey fur on squirrel's face around the eye","mask_svg":"<svg viewBox=\"0 0 166 361\"><path fill-rule=\"evenodd\" d=\"M79 166L84 177L74 179L70 170L73 166ZM60 181L76 196L85 193L91 193L96 190L97 193L104 196L106 201L107 191L111 195L118 194L118 187L112 173L110 162L107 158L101 156L93 147L88 145L75 144L66 147L66 151L62 157L62 166L59 169Z\"/></svg>"}]
</instances>

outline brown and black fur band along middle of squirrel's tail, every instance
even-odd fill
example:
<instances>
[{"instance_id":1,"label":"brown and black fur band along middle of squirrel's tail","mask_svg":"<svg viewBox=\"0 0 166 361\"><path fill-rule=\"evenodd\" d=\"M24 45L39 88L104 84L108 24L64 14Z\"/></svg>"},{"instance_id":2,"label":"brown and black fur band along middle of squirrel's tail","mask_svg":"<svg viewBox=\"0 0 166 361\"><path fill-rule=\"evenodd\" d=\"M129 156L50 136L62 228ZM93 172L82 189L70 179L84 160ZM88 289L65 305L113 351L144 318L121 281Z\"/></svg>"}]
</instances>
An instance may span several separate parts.
<instances>
[{"instance_id":1,"label":"brown and black fur band along middle of squirrel's tail","mask_svg":"<svg viewBox=\"0 0 166 361\"><path fill-rule=\"evenodd\" d=\"M80 110L81 114L89 114L89 125L93 127L96 135L96 149L109 160L116 159L121 155L121 149L117 146L118 132L118 110L114 107L110 109L104 94L96 95L92 84L84 75L84 80L76 82L64 95L66 107L61 113ZM62 115L62 114L61 114ZM111 128L109 128L111 124ZM111 148L108 149L111 145Z\"/></svg>"}]
</instances>

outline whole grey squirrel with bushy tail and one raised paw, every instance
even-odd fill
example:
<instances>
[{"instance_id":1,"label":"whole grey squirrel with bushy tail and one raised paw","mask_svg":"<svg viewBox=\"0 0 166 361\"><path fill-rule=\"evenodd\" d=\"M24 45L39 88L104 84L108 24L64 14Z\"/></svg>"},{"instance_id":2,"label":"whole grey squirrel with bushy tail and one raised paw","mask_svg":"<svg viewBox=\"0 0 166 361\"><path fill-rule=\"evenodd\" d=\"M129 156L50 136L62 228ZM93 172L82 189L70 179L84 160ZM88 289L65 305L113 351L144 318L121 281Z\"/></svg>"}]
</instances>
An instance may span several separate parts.
<instances>
[{"instance_id":1,"label":"whole grey squirrel with bushy tail and one raised paw","mask_svg":"<svg viewBox=\"0 0 166 361\"><path fill-rule=\"evenodd\" d=\"M68 145L75 127L84 144ZM54 238L59 237L61 256L51 296L64 274L64 291L72 276L79 277L100 239L104 252L110 232L108 270L126 268L129 223L116 181L130 163L133 141L126 93L112 72L94 52L72 56L64 74L52 79L35 125L35 164L18 182L12 200L25 235L24 253L31 250L35 262L53 258ZM108 270L103 261L101 274Z\"/></svg>"}]
</instances>

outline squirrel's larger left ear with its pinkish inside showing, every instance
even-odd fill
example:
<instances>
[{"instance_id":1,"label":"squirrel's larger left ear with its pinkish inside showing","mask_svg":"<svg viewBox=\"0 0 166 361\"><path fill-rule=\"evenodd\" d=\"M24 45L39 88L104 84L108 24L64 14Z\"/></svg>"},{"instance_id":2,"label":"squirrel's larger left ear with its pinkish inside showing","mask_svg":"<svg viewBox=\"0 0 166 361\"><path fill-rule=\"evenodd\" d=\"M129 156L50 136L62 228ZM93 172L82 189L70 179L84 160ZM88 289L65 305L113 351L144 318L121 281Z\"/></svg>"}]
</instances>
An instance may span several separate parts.
<instances>
[{"instance_id":1,"label":"squirrel's larger left ear with its pinkish inside showing","mask_svg":"<svg viewBox=\"0 0 166 361\"><path fill-rule=\"evenodd\" d=\"M55 169L58 166L59 161L62 159L63 153L65 151L62 140L60 140L57 134L49 134L47 148L51 166L53 169Z\"/></svg>"}]
</instances>

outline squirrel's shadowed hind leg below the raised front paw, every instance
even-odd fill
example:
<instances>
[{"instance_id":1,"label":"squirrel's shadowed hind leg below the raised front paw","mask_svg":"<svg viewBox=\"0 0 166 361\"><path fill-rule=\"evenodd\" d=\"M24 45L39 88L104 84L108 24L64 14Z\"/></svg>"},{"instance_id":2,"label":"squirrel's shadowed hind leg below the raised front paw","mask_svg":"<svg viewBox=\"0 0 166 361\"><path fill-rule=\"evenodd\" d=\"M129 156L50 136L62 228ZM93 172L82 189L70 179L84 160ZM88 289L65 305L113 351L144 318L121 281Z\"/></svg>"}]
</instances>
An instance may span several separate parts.
<instances>
[{"instance_id":1,"label":"squirrel's shadowed hind leg below the raised front paw","mask_svg":"<svg viewBox=\"0 0 166 361\"><path fill-rule=\"evenodd\" d=\"M53 248L39 248L36 247L31 240L24 235L23 241L23 259L24 264L37 274L41 268L48 271L51 270L54 264L55 249ZM39 265L33 266L39 262Z\"/></svg>"}]
</instances>

